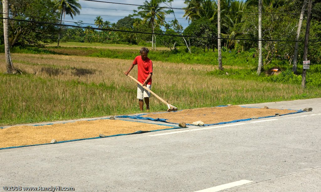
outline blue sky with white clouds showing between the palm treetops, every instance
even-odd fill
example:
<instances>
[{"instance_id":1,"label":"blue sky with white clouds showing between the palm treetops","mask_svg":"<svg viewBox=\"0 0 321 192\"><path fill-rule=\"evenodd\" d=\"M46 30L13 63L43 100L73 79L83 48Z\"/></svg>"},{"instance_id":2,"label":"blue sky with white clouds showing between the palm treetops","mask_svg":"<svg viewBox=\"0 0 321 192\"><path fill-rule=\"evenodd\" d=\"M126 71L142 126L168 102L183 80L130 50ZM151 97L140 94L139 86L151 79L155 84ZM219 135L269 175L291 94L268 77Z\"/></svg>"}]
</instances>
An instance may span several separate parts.
<instances>
[{"instance_id":1,"label":"blue sky with white clouds showing between the palm treetops","mask_svg":"<svg viewBox=\"0 0 321 192\"><path fill-rule=\"evenodd\" d=\"M105 2L113 2L113 3L125 3L125 4L137 4L143 5L145 0L99 0ZM92 27L97 27L94 25L94 20L97 16L101 16L103 21L110 21L111 23L117 23L119 19L128 16L129 14L133 14L133 10L138 10L138 6L133 5L121 5L121 4L111 4L111 3L100 3L100 2L92 2L92 1L84 1L79 0L78 3L81 4L82 9L80 10L80 15L74 16L72 19L69 15L65 16L64 21L72 21L65 22L68 25L75 25L73 22L82 21L83 26L91 25ZM165 4L161 4L161 6L166 6ZM174 8L183 8L187 5L184 4L184 0L174 0L172 2L172 7ZM97 9L99 8L99 9ZM116 10L110 10L116 9ZM175 10L175 16L178 19L179 23L186 28L188 26L188 21L185 18L182 18L184 15L184 10ZM166 21L169 22L174 19L174 15L170 14L166 16Z\"/></svg>"}]
</instances>

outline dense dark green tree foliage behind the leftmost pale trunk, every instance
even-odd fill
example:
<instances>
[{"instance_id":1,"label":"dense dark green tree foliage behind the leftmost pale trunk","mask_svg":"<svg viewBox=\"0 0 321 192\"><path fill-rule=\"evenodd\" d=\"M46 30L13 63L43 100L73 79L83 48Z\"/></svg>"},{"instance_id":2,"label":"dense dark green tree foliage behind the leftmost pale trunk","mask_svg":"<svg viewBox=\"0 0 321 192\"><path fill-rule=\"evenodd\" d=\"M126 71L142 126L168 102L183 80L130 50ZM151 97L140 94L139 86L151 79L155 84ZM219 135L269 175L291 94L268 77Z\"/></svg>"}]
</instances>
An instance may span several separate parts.
<instances>
[{"instance_id":1,"label":"dense dark green tree foliage behind the leftmost pale trunk","mask_svg":"<svg viewBox=\"0 0 321 192\"><path fill-rule=\"evenodd\" d=\"M2 5L1 5L2 9ZM59 13L51 0L16 0L9 5L12 19L9 21L9 42L11 46L42 46L56 40L58 30L55 25L28 21L58 23ZM3 32L3 22L1 30ZM3 36L3 33L1 34Z\"/></svg>"}]
</instances>

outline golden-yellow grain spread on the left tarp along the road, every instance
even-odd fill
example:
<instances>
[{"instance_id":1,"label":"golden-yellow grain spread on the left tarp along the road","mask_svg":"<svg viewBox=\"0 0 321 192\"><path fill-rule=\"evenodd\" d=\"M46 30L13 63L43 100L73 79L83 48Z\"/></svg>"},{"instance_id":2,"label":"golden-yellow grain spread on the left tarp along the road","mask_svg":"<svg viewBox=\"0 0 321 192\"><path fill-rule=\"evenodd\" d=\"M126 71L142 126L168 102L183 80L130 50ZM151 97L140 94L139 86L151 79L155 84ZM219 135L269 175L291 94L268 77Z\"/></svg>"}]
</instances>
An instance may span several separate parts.
<instances>
[{"instance_id":1,"label":"golden-yellow grain spread on the left tarp along the road","mask_svg":"<svg viewBox=\"0 0 321 192\"><path fill-rule=\"evenodd\" d=\"M13 126L0 129L0 148L50 143L52 139L67 141L99 137L99 134L110 136L134 133L139 130L170 128L173 127L109 119L43 126Z\"/></svg>"}]
</instances>

